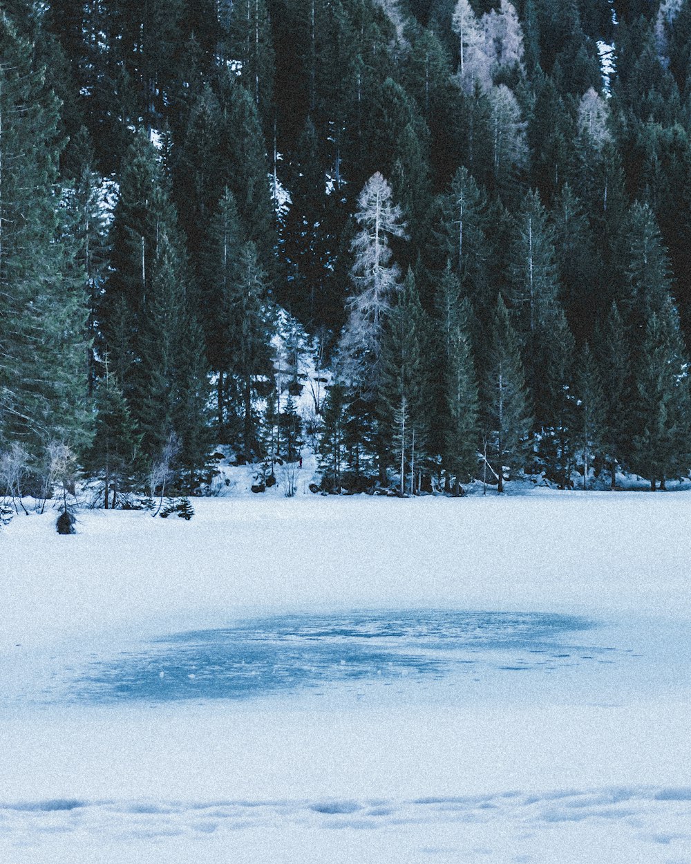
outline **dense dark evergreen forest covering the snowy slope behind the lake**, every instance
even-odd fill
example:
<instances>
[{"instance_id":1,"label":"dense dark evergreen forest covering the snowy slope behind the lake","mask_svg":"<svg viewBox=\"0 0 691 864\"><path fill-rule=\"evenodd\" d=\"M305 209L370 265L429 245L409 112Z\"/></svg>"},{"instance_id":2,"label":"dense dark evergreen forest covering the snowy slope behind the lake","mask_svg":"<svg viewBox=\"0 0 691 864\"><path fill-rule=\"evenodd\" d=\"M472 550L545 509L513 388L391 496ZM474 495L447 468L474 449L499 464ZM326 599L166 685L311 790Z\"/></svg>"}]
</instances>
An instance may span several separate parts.
<instances>
[{"instance_id":1,"label":"dense dark evergreen forest covering the snowy slope behind the lake","mask_svg":"<svg viewBox=\"0 0 691 864\"><path fill-rule=\"evenodd\" d=\"M691 0L0 0L0 494L688 477L690 54Z\"/></svg>"}]
</instances>

